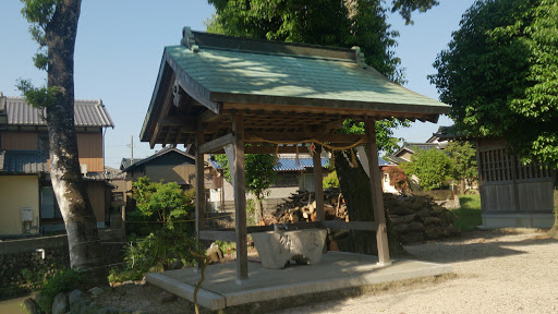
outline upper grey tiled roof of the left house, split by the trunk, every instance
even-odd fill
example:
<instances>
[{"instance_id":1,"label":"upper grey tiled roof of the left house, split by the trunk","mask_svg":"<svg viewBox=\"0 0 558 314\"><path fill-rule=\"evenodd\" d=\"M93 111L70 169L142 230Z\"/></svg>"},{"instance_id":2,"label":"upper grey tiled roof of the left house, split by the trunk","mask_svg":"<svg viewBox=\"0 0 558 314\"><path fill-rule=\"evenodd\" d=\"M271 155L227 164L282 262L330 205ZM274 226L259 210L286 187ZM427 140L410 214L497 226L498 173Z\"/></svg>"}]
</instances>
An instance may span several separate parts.
<instances>
[{"instance_id":1,"label":"upper grey tiled roof of the left house, split by the trunk","mask_svg":"<svg viewBox=\"0 0 558 314\"><path fill-rule=\"evenodd\" d=\"M1 97L1 96L0 96ZM41 109L27 105L23 97L3 97L9 125L47 125L41 119ZM75 100L75 126L114 128L109 112L98 100Z\"/></svg>"}]
</instances>

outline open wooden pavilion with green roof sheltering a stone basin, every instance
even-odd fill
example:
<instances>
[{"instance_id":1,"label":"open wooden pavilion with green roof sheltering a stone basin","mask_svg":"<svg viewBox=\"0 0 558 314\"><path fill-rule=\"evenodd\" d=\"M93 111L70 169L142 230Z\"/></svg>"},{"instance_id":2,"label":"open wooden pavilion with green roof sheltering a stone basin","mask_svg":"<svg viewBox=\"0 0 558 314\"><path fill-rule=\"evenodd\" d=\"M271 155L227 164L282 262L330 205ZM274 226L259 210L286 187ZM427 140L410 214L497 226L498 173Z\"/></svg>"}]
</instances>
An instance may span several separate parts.
<instances>
[{"instance_id":1,"label":"open wooden pavilion with green roof sheltering a stone basin","mask_svg":"<svg viewBox=\"0 0 558 314\"><path fill-rule=\"evenodd\" d=\"M393 118L436 122L448 111L449 106L367 67L357 47L254 40L184 27L181 45L165 48L141 140L151 147L195 147L196 237L236 242L236 282L241 282L248 278L246 237L267 228L246 227L244 154L295 153L302 143L314 143L318 149L366 145L375 224L324 221L323 191L316 189L318 221L311 226L376 230L378 261L389 265L374 122ZM338 134L347 119L365 122L366 134ZM235 230L207 230L204 154L222 154L226 146L235 173ZM314 154L314 164L319 162L319 154ZM322 167L314 171L316 186L322 186Z\"/></svg>"}]
</instances>

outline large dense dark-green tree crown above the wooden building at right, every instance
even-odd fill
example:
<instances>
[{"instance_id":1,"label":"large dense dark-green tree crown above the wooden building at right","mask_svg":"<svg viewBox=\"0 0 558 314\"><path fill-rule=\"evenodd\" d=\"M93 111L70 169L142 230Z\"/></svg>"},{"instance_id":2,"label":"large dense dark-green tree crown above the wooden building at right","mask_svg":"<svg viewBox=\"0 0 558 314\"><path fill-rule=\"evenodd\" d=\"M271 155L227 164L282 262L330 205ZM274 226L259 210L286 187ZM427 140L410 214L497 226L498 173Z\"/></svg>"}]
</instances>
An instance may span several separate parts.
<instances>
[{"instance_id":1,"label":"large dense dark-green tree crown above the wooden building at right","mask_svg":"<svg viewBox=\"0 0 558 314\"><path fill-rule=\"evenodd\" d=\"M430 75L458 128L558 165L558 2L476 1Z\"/></svg>"}]
</instances>

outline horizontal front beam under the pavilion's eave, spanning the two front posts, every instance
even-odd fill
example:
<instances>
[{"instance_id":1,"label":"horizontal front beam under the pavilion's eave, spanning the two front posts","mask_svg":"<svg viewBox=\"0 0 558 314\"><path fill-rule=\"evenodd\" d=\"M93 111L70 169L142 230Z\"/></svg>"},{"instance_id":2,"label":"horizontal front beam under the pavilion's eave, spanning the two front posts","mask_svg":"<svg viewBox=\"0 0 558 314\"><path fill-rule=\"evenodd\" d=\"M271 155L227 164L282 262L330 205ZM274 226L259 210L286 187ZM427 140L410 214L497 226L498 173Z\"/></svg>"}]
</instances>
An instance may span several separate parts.
<instances>
[{"instance_id":1,"label":"horizontal front beam under the pavilion's eave, spanning the two front posts","mask_svg":"<svg viewBox=\"0 0 558 314\"><path fill-rule=\"evenodd\" d=\"M301 142L315 140L323 143L356 143L359 141L366 142L366 135L359 134L333 134L333 133L284 133L284 132L254 132L246 134L246 142L262 143L265 141L275 142Z\"/></svg>"}]
</instances>

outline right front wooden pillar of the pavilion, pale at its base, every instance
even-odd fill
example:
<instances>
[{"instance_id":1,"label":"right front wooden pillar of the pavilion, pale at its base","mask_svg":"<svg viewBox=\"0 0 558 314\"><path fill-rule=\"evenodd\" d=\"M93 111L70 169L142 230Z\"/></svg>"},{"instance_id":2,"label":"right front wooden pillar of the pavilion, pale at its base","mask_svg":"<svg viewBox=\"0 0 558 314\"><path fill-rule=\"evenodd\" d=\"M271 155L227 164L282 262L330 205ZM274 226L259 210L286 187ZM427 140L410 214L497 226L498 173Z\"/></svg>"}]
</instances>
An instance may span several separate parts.
<instances>
[{"instance_id":1,"label":"right front wooden pillar of the pavilion, pale at its base","mask_svg":"<svg viewBox=\"0 0 558 314\"><path fill-rule=\"evenodd\" d=\"M374 218L376 220L376 242L378 245L378 264L389 265L389 245L388 233L386 228L386 215L384 212L384 195L381 191L381 178L378 166L378 146L376 144L376 129L375 120L372 118L366 119L366 135L368 137L368 168L371 178L371 195L372 195L372 209L374 210Z\"/></svg>"}]
</instances>

